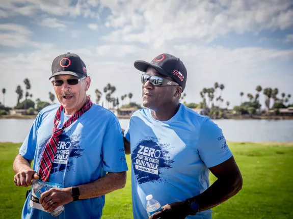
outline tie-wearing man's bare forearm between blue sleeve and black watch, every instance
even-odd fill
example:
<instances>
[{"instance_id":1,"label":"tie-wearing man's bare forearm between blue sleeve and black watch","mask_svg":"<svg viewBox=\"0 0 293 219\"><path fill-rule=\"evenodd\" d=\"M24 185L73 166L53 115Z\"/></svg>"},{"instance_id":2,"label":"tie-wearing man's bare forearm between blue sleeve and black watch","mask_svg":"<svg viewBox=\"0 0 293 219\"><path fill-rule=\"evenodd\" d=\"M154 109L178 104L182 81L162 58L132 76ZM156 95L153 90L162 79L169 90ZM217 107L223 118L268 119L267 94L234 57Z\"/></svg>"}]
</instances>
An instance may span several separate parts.
<instances>
[{"instance_id":1,"label":"tie-wearing man's bare forearm between blue sleeve and black watch","mask_svg":"<svg viewBox=\"0 0 293 219\"><path fill-rule=\"evenodd\" d=\"M98 180L78 185L79 199L90 199L103 196L117 189L124 188L126 183L126 171L120 173L108 173Z\"/></svg>"}]
</instances>

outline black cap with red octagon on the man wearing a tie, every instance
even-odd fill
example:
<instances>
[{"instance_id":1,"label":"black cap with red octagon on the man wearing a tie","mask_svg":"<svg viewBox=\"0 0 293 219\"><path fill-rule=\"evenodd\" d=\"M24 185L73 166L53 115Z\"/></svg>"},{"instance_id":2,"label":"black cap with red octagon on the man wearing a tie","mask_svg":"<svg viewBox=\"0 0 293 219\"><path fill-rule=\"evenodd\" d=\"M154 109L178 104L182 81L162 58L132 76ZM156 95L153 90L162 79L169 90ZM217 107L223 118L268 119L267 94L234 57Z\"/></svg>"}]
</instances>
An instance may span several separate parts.
<instances>
[{"instance_id":1,"label":"black cap with red octagon on the man wearing a tie","mask_svg":"<svg viewBox=\"0 0 293 219\"><path fill-rule=\"evenodd\" d=\"M49 79L57 75L73 75L82 78L88 76L87 67L77 54L67 52L56 57L52 63L52 75Z\"/></svg>"}]
</instances>

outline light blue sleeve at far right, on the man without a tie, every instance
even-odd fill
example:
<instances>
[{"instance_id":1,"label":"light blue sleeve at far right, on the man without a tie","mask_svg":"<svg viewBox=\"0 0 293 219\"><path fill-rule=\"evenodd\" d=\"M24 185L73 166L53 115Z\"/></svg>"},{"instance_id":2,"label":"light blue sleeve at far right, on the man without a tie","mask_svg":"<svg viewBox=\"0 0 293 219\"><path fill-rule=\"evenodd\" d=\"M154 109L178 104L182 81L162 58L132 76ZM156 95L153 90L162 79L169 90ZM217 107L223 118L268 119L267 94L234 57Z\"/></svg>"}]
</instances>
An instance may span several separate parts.
<instances>
[{"instance_id":1,"label":"light blue sleeve at far right, on the man without a tie","mask_svg":"<svg viewBox=\"0 0 293 219\"><path fill-rule=\"evenodd\" d=\"M201 124L197 147L208 168L215 167L232 156L222 129L208 117Z\"/></svg>"}]
</instances>

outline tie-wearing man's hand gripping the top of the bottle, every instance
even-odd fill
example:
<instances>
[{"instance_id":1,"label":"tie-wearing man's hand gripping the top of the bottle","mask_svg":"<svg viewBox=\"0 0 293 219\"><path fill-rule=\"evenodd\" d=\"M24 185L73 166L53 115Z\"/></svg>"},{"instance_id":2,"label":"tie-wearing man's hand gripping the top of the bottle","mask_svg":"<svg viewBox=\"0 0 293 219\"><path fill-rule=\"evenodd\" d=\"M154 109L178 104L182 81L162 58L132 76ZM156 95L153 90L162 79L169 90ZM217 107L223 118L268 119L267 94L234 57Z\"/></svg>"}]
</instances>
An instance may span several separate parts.
<instances>
[{"instance_id":1,"label":"tie-wearing man's hand gripping the top of the bottle","mask_svg":"<svg viewBox=\"0 0 293 219\"><path fill-rule=\"evenodd\" d=\"M38 173L31 168L22 169L14 176L14 184L28 187L32 185L32 179L39 179Z\"/></svg>"}]
</instances>

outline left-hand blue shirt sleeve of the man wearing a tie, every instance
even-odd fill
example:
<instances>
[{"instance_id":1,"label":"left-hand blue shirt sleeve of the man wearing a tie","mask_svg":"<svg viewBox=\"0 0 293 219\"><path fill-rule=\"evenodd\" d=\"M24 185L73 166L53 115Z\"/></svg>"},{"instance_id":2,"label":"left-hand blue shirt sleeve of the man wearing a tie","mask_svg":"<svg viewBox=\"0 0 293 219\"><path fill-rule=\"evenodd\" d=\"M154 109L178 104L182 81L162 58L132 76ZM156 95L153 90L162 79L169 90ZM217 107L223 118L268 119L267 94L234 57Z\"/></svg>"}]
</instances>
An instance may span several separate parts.
<instances>
[{"instance_id":1,"label":"left-hand blue shirt sleeve of the man wearing a tie","mask_svg":"<svg viewBox=\"0 0 293 219\"><path fill-rule=\"evenodd\" d=\"M37 133L39 128L39 120L40 114L34 120L34 123L31 127L30 133L26 136L24 142L22 143L21 147L19 148L19 153L25 159L33 160L36 152L37 147Z\"/></svg>"}]
</instances>

